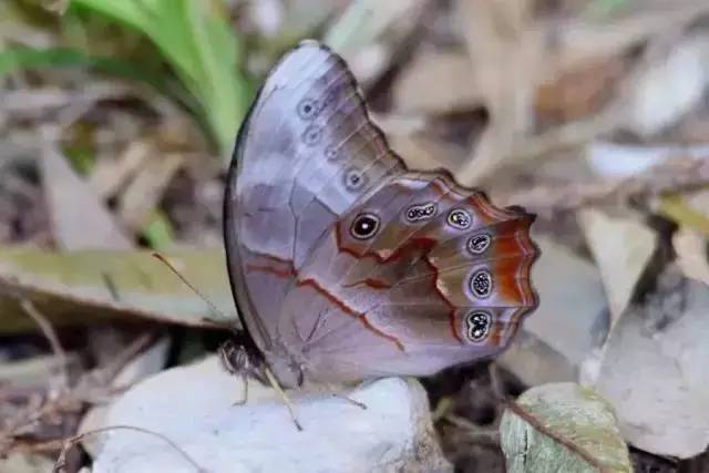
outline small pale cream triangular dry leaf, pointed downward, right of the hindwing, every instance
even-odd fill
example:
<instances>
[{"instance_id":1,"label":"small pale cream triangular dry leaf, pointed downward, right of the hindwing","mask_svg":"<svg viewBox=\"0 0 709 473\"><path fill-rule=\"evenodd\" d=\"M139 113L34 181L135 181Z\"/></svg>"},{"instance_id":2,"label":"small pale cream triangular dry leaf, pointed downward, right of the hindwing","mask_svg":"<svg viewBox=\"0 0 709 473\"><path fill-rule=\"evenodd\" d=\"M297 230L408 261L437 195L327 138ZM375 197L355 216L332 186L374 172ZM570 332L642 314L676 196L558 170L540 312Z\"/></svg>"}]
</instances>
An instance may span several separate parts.
<instances>
[{"instance_id":1,"label":"small pale cream triangular dry leaf, pointed downward, right of the hindwing","mask_svg":"<svg viewBox=\"0 0 709 473\"><path fill-rule=\"evenodd\" d=\"M600 269L613 327L655 253L656 235L635 218L610 217L595 208L580 210L578 223Z\"/></svg>"}]
</instances>

